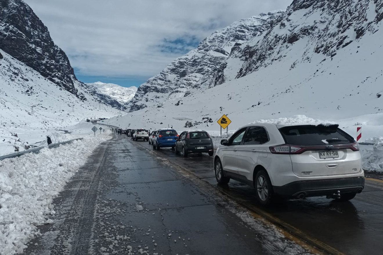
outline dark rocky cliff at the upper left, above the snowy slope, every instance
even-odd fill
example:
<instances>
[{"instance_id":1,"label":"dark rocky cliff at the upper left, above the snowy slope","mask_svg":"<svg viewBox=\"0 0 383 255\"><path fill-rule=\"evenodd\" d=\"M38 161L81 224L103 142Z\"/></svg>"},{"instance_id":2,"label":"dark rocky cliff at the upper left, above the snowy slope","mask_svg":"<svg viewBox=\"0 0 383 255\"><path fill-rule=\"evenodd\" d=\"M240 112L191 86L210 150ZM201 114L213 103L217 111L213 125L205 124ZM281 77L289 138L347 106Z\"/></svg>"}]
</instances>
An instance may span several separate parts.
<instances>
[{"instance_id":1,"label":"dark rocky cliff at the upper left, above the snowy slope","mask_svg":"<svg viewBox=\"0 0 383 255\"><path fill-rule=\"evenodd\" d=\"M0 0L0 49L75 94L76 77L65 52L51 39L48 29L22 0Z\"/></svg>"}]
</instances>

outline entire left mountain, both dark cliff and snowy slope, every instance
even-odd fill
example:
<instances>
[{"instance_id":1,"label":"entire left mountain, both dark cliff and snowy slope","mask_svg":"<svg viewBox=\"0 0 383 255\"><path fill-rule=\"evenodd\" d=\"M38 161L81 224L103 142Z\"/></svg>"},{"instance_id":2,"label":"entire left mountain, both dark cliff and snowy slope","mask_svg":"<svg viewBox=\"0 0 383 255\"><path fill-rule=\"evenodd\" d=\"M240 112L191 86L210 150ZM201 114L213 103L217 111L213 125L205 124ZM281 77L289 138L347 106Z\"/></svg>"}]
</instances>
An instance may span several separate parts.
<instances>
[{"instance_id":1,"label":"entire left mountain, both dark cliff and snowy slope","mask_svg":"<svg viewBox=\"0 0 383 255\"><path fill-rule=\"evenodd\" d=\"M77 80L66 54L25 2L0 0L0 17L1 155L87 118L127 109L126 102Z\"/></svg>"}]
</instances>

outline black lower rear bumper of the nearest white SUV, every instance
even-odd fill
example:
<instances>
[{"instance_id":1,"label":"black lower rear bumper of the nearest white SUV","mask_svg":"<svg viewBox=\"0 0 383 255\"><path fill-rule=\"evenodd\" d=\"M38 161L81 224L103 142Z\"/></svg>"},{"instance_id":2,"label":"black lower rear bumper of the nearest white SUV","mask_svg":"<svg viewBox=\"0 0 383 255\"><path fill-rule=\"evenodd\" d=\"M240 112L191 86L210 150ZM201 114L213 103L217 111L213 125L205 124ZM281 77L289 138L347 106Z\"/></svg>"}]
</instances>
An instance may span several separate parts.
<instances>
[{"instance_id":1,"label":"black lower rear bumper of the nearest white SUV","mask_svg":"<svg viewBox=\"0 0 383 255\"><path fill-rule=\"evenodd\" d=\"M364 188L364 177L346 177L324 180L302 180L283 186L273 186L273 190L283 197L295 197L304 193L305 197L319 197L337 193L358 192Z\"/></svg>"}]
</instances>

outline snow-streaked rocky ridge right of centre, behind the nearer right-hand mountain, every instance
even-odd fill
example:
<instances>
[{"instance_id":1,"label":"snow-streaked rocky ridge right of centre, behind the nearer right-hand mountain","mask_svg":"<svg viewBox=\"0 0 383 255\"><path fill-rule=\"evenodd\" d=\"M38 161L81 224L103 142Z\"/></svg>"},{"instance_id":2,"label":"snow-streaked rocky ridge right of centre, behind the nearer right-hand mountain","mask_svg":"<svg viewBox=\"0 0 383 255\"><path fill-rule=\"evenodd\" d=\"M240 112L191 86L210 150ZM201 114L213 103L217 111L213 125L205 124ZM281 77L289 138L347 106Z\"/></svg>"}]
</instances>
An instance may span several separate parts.
<instances>
[{"instance_id":1,"label":"snow-streaked rocky ridge right of centre, behind the nearer right-hand mountain","mask_svg":"<svg viewBox=\"0 0 383 255\"><path fill-rule=\"evenodd\" d=\"M130 110L135 111L176 99L182 100L193 91L221 84L224 77L217 76L217 73L225 68L226 59L233 47L262 34L265 21L278 13L262 13L239 20L206 37L197 49L177 58L159 75L139 86L136 95L129 102Z\"/></svg>"}]
</instances>

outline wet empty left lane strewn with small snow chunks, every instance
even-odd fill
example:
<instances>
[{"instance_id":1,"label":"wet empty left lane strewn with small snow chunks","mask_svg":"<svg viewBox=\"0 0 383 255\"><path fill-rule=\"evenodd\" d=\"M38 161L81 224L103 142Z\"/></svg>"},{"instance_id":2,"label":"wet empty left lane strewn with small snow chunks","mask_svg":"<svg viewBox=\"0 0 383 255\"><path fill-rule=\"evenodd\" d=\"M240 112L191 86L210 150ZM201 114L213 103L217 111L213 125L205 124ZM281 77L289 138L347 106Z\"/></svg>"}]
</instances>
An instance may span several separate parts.
<instances>
[{"instance_id":1,"label":"wet empty left lane strewn with small snow chunks","mask_svg":"<svg viewBox=\"0 0 383 255\"><path fill-rule=\"evenodd\" d=\"M24 254L308 254L169 164L170 150L141 145L147 143L113 134L98 146L53 201L54 222L39 226L41 236ZM198 169L210 158L182 162L205 175Z\"/></svg>"}]
</instances>

